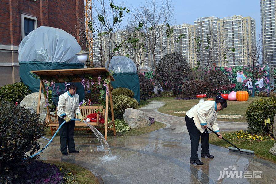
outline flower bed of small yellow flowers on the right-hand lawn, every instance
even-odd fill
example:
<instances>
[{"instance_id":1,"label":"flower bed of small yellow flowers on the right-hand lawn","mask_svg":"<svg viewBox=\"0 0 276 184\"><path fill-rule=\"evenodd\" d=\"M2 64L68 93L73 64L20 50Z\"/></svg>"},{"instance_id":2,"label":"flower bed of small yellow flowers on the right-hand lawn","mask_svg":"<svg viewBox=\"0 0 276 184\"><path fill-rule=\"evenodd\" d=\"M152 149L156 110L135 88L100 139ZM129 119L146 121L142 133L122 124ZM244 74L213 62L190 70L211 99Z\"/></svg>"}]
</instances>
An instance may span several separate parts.
<instances>
[{"instance_id":1,"label":"flower bed of small yellow flowers on the right-hand lawn","mask_svg":"<svg viewBox=\"0 0 276 184\"><path fill-rule=\"evenodd\" d=\"M224 137L229 140L253 140L253 141L254 140L255 141L274 140L274 138L271 136L251 134L246 130L240 130L238 132L225 134Z\"/></svg>"}]
</instances>

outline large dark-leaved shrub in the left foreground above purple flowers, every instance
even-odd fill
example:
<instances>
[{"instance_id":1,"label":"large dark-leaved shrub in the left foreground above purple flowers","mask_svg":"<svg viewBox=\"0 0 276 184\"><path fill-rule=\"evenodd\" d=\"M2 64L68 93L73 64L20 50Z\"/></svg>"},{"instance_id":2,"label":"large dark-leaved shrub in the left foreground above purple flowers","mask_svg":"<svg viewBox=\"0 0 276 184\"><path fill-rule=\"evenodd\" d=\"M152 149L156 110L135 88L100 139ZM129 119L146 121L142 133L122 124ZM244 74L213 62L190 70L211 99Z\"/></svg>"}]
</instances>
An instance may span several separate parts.
<instances>
[{"instance_id":1,"label":"large dark-leaved shrub in the left foreground above purple flowers","mask_svg":"<svg viewBox=\"0 0 276 184\"><path fill-rule=\"evenodd\" d=\"M28 157L26 152L33 155L40 149L37 140L44 130L36 113L12 102L0 102L0 183L13 183L24 173L22 159Z\"/></svg>"}]
</instances>

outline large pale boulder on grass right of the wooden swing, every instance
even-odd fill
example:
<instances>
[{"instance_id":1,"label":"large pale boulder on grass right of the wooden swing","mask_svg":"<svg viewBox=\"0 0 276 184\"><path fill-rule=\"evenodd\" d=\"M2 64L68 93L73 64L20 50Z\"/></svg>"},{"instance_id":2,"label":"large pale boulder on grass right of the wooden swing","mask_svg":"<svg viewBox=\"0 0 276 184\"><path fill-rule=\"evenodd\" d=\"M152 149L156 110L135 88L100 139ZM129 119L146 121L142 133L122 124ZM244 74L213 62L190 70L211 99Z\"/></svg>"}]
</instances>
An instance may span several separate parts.
<instances>
[{"instance_id":1,"label":"large pale boulder on grass right of the wooden swing","mask_svg":"<svg viewBox=\"0 0 276 184\"><path fill-rule=\"evenodd\" d=\"M123 118L130 128L142 128L150 124L147 114L137 109L125 109Z\"/></svg>"}]
</instances>

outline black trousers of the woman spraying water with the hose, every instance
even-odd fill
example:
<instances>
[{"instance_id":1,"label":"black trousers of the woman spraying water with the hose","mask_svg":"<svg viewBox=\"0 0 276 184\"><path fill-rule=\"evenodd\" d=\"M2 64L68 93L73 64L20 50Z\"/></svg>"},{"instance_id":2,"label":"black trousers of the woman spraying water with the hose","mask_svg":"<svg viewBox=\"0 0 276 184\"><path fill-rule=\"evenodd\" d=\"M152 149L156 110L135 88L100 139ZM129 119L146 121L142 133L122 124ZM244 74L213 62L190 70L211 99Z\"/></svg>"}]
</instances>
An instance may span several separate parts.
<instances>
[{"instance_id":1,"label":"black trousers of the woman spraying water with the hose","mask_svg":"<svg viewBox=\"0 0 276 184\"><path fill-rule=\"evenodd\" d=\"M60 126L65 120L60 117L58 119ZM62 125L62 127L59 129L60 151L62 153L67 153L67 145L69 152L75 151L74 128L75 121L70 121L68 123L64 123L64 125Z\"/></svg>"}]
</instances>

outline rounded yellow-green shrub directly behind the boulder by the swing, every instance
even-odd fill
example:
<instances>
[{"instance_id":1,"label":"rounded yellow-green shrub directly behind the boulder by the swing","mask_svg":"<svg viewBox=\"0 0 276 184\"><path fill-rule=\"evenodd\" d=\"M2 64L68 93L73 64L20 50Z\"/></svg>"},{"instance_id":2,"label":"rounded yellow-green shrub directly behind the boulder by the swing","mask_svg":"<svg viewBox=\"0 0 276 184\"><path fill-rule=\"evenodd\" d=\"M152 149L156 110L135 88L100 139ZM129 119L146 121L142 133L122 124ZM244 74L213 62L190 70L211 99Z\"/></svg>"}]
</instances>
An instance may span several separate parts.
<instances>
[{"instance_id":1,"label":"rounded yellow-green shrub directly behind the boulder by the swing","mask_svg":"<svg viewBox=\"0 0 276 184\"><path fill-rule=\"evenodd\" d=\"M125 95L114 96L113 109L115 119L122 119L125 113L125 109L127 108L137 109L138 101Z\"/></svg>"}]
</instances>

